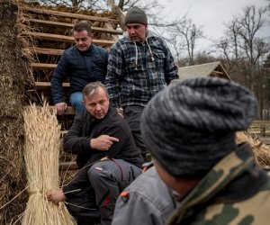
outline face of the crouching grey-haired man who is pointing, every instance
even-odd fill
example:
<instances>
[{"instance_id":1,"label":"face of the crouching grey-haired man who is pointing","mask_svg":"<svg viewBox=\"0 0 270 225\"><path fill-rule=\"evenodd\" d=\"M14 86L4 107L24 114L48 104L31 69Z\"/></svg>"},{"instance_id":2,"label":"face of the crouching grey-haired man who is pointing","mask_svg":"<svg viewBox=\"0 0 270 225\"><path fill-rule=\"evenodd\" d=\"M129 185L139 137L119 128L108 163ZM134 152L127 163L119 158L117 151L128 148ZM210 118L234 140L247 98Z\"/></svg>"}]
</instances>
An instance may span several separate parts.
<instances>
[{"instance_id":1,"label":"face of the crouching grey-haired man who is pointing","mask_svg":"<svg viewBox=\"0 0 270 225\"><path fill-rule=\"evenodd\" d=\"M85 96L84 103L86 110L97 120L103 119L109 109L109 97L101 87L91 96Z\"/></svg>"}]
</instances>

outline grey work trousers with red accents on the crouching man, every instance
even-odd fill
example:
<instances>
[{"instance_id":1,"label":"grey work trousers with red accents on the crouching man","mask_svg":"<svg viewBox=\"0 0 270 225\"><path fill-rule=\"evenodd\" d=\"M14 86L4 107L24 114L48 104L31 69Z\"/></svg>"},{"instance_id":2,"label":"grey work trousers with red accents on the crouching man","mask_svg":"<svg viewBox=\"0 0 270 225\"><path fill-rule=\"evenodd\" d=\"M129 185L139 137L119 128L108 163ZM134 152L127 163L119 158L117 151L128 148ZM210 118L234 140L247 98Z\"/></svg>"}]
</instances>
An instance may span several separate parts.
<instances>
[{"instance_id":1,"label":"grey work trousers with red accents on the crouching man","mask_svg":"<svg viewBox=\"0 0 270 225\"><path fill-rule=\"evenodd\" d=\"M95 163L88 170L89 187L66 200L68 211L88 217L99 216L100 213L101 224L111 224L119 194L140 173L139 167L121 159Z\"/></svg>"}]
</instances>

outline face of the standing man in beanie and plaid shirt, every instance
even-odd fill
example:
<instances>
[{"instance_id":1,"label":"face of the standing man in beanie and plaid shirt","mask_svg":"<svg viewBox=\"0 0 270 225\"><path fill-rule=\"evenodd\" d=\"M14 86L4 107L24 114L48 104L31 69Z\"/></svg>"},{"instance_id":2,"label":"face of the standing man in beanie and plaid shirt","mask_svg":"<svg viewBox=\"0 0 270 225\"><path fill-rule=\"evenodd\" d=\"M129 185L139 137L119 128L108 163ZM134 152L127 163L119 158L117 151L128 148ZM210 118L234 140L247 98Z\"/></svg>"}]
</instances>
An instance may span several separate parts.
<instances>
[{"instance_id":1,"label":"face of the standing man in beanie and plaid shirt","mask_svg":"<svg viewBox=\"0 0 270 225\"><path fill-rule=\"evenodd\" d=\"M128 23L126 25L130 39L135 42L143 42L147 37L147 25L141 23Z\"/></svg>"}]
</instances>

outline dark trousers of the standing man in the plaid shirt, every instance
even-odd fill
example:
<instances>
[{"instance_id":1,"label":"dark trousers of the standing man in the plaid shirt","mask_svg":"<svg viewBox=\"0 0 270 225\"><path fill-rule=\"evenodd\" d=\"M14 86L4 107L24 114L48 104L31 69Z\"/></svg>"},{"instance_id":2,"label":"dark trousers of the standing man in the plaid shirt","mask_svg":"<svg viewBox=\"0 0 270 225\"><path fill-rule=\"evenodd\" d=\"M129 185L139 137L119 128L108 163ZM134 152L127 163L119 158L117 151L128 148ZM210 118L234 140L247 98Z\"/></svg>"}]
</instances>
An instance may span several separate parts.
<instances>
[{"instance_id":1,"label":"dark trousers of the standing man in the plaid shirt","mask_svg":"<svg viewBox=\"0 0 270 225\"><path fill-rule=\"evenodd\" d=\"M146 154L148 153L145 144L141 138L140 132L140 116L144 107L139 105L126 106L123 110L123 115L125 120L130 125L130 130L132 132L133 139L137 148L140 149L142 157L146 160Z\"/></svg>"}]
</instances>

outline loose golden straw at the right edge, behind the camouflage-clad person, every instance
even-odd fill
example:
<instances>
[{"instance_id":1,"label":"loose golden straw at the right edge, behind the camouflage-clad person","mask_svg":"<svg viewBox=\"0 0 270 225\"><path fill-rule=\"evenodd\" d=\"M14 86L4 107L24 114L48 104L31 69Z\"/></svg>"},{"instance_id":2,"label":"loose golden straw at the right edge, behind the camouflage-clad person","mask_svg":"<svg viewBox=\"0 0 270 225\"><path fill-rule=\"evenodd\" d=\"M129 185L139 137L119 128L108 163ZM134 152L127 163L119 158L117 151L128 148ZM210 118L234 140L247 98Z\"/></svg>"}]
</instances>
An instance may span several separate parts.
<instances>
[{"instance_id":1,"label":"loose golden straw at the right edge, behind the camouflage-clad person","mask_svg":"<svg viewBox=\"0 0 270 225\"><path fill-rule=\"evenodd\" d=\"M257 162L261 166L270 166L270 147L258 138L252 138L243 131L237 132L237 142L247 142L253 149Z\"/></svg>"}]
</instances>

